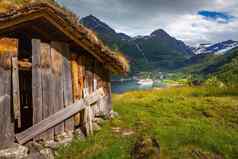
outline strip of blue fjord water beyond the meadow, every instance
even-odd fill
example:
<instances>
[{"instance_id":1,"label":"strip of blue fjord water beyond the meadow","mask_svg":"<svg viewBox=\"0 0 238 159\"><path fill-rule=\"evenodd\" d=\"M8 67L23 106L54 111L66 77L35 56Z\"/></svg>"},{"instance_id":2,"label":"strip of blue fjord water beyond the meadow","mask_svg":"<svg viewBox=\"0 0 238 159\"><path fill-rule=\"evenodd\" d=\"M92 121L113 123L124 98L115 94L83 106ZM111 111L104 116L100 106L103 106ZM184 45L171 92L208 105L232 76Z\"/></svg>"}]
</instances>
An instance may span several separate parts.
<instances>
[{"instance_id":1,"label":"strip of blue fjord water beyond the meadow","mask_svg":"<svg viewBox=\"0 0 238 159\"><path fill-rule=\"evenodd\" d=\"M163 84L137 85L136 81L112 82L113 93L124 93L133 90L146 90L154 87L163 87Z\"/></svg>"}]
</instances>

